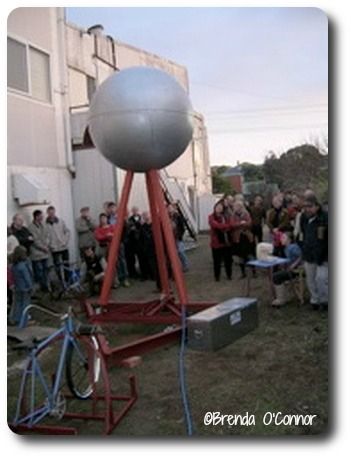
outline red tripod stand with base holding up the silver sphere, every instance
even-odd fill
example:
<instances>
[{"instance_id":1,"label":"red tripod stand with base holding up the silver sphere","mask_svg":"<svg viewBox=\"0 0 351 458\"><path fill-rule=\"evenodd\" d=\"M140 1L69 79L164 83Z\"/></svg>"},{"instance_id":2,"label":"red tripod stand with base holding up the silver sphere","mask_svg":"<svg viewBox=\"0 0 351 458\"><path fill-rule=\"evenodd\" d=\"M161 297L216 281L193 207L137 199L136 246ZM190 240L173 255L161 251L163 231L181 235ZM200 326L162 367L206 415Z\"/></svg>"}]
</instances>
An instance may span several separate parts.
<instances>
[{"instance_id":1,"label":"red tripod stand with base holding up the silver sphere","mask_svg":"<svg viewBox=\"0 0 351 458\"><path fill-rule=\"evenodd\" d=\"M128 171L122 190L121 200L117 211L116 230L111 241L107 270L99 299L101 313L96 314L88 307L89 318L95 323L108 322L144 322L179 324L181 306L186 306L187 312L196 312L214 305L213 303L190 303L185 288L184 276L177 253L171 222L167 214L163 192L157 170L146 172L146 187L152 217L152 230L160 277L160 297L147 302L112 302L109 295L116 271L119 248L121 244L123 223L127 213L127 204L133 182L133 172ZM178 296L176 301L168 278L166 253L168 255L175 289ZM87 304L88 305L88 304Z\"/></svg>"}]
</instances>

